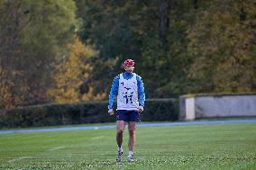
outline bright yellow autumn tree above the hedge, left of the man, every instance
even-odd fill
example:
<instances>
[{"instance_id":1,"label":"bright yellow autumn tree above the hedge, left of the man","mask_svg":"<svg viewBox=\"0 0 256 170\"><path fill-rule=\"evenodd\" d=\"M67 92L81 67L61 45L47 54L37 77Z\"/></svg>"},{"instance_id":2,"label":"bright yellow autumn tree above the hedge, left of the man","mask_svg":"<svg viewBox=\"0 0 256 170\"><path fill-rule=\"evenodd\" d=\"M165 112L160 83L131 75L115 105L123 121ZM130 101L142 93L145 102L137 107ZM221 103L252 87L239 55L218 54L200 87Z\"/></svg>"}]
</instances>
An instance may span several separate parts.
<instances>
[{"instance_id":1,"label":"bright yellow autumn tree above the hedge, left of the man","mask_svg":"<svg viewBox=\"0 0 256 170\"><path fill-rule=\"evenodd\" d=\"M87 100L99 100L104 95L92 94L92 87L86 94L80 94L79 86L91 74L92 66L89 58L96 56L96 50L85 46L78 38L68 44L69 55L56 67L55 88L48 90L47 94L57 103L78 103Z\"/></svg>"}]
</instances>

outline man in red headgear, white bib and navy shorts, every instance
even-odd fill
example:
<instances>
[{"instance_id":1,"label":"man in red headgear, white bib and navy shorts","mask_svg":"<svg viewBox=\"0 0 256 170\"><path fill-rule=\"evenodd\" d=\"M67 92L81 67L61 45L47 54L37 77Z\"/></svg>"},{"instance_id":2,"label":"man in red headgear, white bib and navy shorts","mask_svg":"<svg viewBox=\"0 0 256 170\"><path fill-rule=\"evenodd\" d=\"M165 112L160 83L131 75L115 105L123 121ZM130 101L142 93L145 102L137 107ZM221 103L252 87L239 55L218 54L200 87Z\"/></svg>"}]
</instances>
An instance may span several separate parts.
<instances>
[{"instance_id":1,"label":"man in red headgear, white bib and navy shorts","mask_svg":"<svg viewBox=\"0 0 256 170\"><path fill-rule=\"evenodd\" d=\"M116 142L117 156L115 160L121 161L123 155L123 130L128 123L129 141L127 160L133 162L133 149L135 145L136 122L140 121L140 113L143 112L145 101L142 77L133 73L135 62L133 59L126 59L123 62L125 72L115 76L109 93L108 113L114 114L114 96L117 94L116 109Z\"/></svg>"}]
</instances>

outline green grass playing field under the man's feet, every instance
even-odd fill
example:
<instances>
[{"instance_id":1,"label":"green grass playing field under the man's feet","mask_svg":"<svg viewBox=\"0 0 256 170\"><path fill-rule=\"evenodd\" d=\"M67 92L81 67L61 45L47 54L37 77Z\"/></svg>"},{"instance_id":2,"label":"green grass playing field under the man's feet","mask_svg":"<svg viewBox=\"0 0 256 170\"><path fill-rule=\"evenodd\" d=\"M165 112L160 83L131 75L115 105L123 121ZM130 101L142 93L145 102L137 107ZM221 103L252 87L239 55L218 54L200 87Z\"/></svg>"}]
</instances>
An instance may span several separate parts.
<instances>
[{"instance_id":1,"label":"green grass playing field under the man's feet","mask_svg":"<svg viewBox=\"0 0 256 170\"><path fill-rule=\"evenodd\" d=\"M0 169L256 169L256 123L138 127L135 163L115 130L0 134Z\"/></svg>"}]
</instances>

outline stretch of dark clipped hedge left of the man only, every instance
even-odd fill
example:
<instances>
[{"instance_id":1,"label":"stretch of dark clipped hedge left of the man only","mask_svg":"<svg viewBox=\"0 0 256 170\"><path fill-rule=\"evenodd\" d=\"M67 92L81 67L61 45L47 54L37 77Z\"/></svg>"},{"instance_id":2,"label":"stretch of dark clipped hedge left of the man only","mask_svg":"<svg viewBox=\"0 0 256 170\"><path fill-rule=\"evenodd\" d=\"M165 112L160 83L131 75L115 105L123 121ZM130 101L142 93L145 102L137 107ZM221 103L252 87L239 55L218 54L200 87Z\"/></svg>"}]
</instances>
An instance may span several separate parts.
<instances>
[{"instance_id":1,"label":"stretch of dark clipped hedge left of the man only","mask_svg":"<svg viewBox=\"0 0 256 170\"><path fill-rule=\"evenodd\" d=\"M105 102L46 104L1 111L0 127L32 127L110 121ZM104 114L105 113L105 114Z\"/></svg>"}]
</instances>

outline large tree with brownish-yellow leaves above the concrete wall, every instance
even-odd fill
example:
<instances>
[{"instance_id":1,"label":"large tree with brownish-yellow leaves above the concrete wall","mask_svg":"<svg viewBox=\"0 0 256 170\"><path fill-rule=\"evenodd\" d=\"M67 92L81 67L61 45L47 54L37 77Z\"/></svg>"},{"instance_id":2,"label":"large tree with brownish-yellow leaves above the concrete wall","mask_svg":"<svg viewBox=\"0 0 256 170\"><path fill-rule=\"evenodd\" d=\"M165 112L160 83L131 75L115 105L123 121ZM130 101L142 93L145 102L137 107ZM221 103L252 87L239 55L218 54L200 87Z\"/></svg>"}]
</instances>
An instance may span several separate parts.
<instances>
[{"instance_id":1,"label":"large tree with brownish-yellow leaves above the concrete wall","mask_svg":"<svg viewBox=\"0 0 256 170\"><path fill-rule=\"evenodd\" d=\"M254 4L252 0L216 0L198 15L187 31L188 53L193 59L188 91L256 91Z\"/></svg>"}]
</instances>

